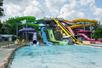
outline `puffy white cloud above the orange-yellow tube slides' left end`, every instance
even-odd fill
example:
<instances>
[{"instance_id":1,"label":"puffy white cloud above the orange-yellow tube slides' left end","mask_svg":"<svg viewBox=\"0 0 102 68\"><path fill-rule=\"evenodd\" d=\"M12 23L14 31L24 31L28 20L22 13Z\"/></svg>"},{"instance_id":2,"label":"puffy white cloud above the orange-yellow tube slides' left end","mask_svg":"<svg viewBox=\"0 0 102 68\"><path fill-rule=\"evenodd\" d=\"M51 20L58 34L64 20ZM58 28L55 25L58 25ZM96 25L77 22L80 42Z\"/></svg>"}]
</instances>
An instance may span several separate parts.
<instances>
[{"instance_id":1,"label":"puffy white cloud above the orange-yellow tube slides' left end","mask_svg":"<svg viewBox=\"0 0 102 68\"><path fill-rule=\"evenodd\" d=\"M69 1L69 4L65 4L61 10L60 14L58 17L63 17L63 18L78 18L78 17L84 17L85 14L81 11L77 11L75 8L77 7L77 2L76 0Z\"/></svg>"}]
</instances>

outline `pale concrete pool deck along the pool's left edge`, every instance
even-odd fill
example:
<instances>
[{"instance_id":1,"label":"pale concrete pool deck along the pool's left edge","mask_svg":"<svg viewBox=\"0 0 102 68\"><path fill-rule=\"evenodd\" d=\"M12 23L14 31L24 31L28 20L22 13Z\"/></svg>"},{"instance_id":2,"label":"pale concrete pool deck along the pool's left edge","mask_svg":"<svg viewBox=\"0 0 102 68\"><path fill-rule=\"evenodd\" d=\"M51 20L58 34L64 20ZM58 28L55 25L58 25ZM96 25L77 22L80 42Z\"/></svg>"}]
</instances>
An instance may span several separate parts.
<instances>
[{"instance_id":1,"label":"pale concrete pool deck along the pool's left edge","mask_svg":"<svg viewBox=\"0 0 102 68\"><path fill-rule=\"evenodd\" d=\"M21 47L26 44L27 43L16 45L12 43L12 44L5 44L3 46L0 46L0 68L5 68L5 65L8 64L9 62L11 54L16 48Z\"/></svg>"}]
</instances>

